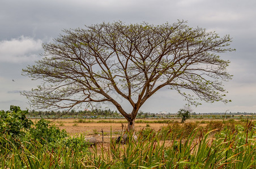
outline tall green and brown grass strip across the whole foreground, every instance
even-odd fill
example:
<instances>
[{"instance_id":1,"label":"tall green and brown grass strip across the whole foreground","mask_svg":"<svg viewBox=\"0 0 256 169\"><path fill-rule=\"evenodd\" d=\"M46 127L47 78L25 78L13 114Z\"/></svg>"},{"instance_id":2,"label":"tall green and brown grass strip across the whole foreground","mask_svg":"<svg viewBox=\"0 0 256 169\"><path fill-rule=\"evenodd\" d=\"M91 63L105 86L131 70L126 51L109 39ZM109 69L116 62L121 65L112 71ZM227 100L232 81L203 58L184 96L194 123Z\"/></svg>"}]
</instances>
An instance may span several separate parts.
<instances>
[{"instance_id":1,"label":"tall green and brown grass strip across the whole foreground","mask_svg":"<svg viewBox=\"0 0 256 169\"><path fill-rule=\"evenodd\" d=\"M0 136L1 168L255 168L254 124L169 124L129 134L126 145L112 139L107 147L88 150L83 136L48 148L37 141L9 141ZM220 128L221 127L221 128ZM100 145L97 145L100 146ZM100 152L99 152L100 151Z\"/></svg>"}]
</instances>

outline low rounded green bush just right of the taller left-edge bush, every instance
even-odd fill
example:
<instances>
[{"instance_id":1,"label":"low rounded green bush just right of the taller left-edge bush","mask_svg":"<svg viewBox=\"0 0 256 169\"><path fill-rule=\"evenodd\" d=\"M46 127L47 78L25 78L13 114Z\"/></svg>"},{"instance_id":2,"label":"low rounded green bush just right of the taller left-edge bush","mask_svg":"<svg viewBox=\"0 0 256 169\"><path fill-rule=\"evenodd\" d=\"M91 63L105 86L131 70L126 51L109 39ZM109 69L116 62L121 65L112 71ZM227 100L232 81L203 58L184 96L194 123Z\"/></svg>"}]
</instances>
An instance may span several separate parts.
<instances>
[{"instance_id":1,"label":"low rounded green bush just right of the taller left-edge bush","mask_svg":"<svg viewBox=\"0 0 256 169\"><path fill-rule=\"evenodd\" d=\"M40 119L40 121L35 124L35 128L31 128L29 131L31 138L39 141L41 144L54 144L67 136L65 130L61 131L56 126L49 124L49 121Z\"/></svg>"}]
</instances>

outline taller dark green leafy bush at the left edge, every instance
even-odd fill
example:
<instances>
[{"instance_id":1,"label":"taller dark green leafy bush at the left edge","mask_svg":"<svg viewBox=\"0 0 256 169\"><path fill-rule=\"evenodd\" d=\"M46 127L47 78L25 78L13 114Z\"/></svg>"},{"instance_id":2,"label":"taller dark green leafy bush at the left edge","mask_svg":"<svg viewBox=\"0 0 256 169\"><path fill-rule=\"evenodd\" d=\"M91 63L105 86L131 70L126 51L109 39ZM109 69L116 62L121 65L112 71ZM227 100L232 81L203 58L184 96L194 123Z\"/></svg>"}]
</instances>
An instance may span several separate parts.
<instances>
[{"instance_id":1,"label":"taller dark green leafy bush at the left edge","mask_svg":"<svg viewBox=\"0 0 256 169\"><path fill-rule=\"evenodd\" d=\"M10 111L0 111L0 134L8 139L22 137L33 122L25 117L28 110L20 110L19 106L10 106Z\"/></svg>"}]
</instances>

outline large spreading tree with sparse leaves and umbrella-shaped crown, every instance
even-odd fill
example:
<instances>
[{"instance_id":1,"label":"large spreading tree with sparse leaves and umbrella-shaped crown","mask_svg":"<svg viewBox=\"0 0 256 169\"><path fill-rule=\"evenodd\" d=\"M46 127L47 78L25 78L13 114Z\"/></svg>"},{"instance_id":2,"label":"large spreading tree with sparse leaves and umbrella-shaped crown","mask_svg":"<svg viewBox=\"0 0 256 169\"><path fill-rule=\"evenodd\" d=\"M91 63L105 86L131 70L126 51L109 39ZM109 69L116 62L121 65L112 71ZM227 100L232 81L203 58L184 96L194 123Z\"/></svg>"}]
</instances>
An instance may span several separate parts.
<instances>
[{"instance_id":1,"label":"large spreading tree with sparse leaves and umbrella-shaped crown","mask_svg":"<svg viewBox=\"0 0 256 169\"><path fill-rule=\"evenodd\" d=\"M72 108L78 104L112 103L129 129L140 107L164 87L177 90L190 104L223 101L222 81L231 79L229 61L217 53L228 48L229 35L190 28L185 21L150 25L103 23L63 30L43 45L44 57L23 74L44 84L23 92L37 108ZM187 93L186 90L192 91ZM114 96L131 105L126 112Z\"/></svg>"}]
</instances>

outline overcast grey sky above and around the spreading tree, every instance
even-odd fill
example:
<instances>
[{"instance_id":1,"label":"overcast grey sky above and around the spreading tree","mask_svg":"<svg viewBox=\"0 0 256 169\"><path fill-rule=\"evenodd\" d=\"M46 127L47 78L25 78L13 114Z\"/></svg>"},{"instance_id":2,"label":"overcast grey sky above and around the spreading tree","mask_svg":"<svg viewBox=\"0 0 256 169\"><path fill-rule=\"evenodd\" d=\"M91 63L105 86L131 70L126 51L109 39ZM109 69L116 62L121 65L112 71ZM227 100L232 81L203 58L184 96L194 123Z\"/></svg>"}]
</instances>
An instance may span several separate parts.
<instances>
[{"instance_id":1,"label":"overcast grey sky above and around the spreading tree","mask_svg":"<svg viewBox=\"0 0 256 169\"><path fill-rule=\"evenodd\" d=\"M231 47L236 48L235 52L220 55L231 61L228 72L234 77L224 84L232 103L203 103L193 108L194 112L256 112L255 0L1 0L0 110L8 110L10 105L32 109L20 91L31 90L40 82L22 76L22 69L40 59L41 44L57 38L62 29L103 21L164 24L178 19L221 36L230 34ZM141 110L176 113L185 104L176 91L162 90Z\"/></svg>"}]
</instances>

